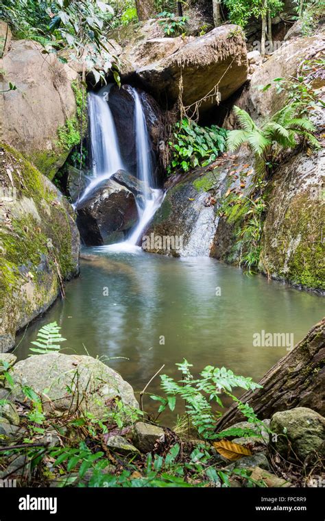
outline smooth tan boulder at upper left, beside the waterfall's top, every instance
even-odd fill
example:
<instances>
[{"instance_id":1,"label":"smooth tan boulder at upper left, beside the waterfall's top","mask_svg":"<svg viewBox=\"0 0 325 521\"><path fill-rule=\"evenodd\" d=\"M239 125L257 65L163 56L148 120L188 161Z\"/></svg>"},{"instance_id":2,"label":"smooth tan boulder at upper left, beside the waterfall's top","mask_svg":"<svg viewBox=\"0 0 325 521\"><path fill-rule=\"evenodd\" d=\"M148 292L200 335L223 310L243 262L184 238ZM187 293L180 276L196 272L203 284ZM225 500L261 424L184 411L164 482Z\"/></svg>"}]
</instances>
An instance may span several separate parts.
<instances>
[{"instance_id":1,"label":"smooth tan boulder at upper left, beside the waterfall's top","mask_svg":"<svg viewBox=\"0 0 325 521\"><path fill-rule=\"evenodd\" d=\"M1 60L1 90L8 89L9 82L16 90L1 95L0 141L19 150L51 179L70 152L62 137L66 133L60 138L58 130L69 121L71 131L76 121L71 82L77 73L55 54L42 51L34 41L12 40Z\"/></svg>"}]
</instances>

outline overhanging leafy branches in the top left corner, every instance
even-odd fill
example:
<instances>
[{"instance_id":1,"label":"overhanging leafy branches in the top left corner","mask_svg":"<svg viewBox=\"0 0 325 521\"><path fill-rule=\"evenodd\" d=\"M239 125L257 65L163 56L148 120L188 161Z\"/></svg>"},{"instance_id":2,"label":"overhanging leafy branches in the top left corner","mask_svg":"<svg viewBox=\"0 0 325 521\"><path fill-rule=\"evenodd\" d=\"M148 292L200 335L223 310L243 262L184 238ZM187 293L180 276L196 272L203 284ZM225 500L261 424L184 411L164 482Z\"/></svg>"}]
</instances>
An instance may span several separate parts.
<instances>
[{"instance_id":1,"label":"overhanging leafy branches in the top left corner","mask_svg":"<svg viewBox=\"0 0 325 521\"><path fill-rule=\"evenodd\" d=\"M117 58L104 34L113 15L112 7L99 0L4 0L0 8L1 18L14 32L38 41L44 53L56 53L67 62L61 51L69 49L69 58L91 70L96 82L105 81L112 69L119 83Z\"/></svg>"}]
</instances>

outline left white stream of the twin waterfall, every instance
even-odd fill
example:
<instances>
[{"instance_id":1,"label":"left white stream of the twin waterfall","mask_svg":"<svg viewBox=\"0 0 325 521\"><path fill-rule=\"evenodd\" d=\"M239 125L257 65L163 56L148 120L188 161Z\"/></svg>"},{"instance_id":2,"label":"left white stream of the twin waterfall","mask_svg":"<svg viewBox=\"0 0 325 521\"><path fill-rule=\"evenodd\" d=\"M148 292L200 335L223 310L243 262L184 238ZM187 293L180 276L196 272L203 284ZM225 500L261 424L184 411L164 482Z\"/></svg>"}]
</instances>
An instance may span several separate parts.
<instances>
[{"instance_id":1,"label":"left white stream of the twin waterfall","mask_svg":"<svg viewBox=\"0 0 325 521\"><path fill-rule=\"evenodd\" d=\"M102 181L109 179L117 170L123 169L123 160L115 122L107 99L110 86L101 88L97 94L88 94L89 125L91 130L91 152L93 177L82 193L78 204Z\"/></svg>"}]
</instances>

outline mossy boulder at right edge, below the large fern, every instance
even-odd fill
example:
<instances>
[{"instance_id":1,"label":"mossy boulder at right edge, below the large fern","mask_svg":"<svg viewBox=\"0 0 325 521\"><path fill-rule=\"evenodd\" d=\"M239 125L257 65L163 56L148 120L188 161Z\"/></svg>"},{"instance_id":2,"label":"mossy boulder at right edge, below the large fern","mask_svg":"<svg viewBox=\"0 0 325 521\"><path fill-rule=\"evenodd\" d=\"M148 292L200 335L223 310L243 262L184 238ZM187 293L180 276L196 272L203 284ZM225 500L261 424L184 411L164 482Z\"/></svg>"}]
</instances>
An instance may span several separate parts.
<instances>
[{"instance_id":1,"label":"mossy boulder at right edge, below the large fern","mask_svg":"<svg viewBox=\"0 0 325 521\"><path fill-rule=\"evenodd\" d=\"M260 271L304 289L325 290L325 152L292 156L276 173L261 241Z\"/></svg>"}]
</instances>

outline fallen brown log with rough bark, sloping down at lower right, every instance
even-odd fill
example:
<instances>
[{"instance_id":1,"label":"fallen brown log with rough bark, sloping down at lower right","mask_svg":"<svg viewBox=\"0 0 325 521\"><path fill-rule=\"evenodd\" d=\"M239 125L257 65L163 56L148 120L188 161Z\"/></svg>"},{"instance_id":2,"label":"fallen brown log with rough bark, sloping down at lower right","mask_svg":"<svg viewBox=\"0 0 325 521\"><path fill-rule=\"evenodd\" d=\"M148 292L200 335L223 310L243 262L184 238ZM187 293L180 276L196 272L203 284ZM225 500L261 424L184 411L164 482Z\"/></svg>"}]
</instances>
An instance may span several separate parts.
<instances>
[{"instance_id":1,"label":"fallen brown log with rough bark, sloping down at lower right","mask_svg":"<svg viewBox=\"0 0 325 521\"><path fill-rule=\"evenodd\" d=\"M249 403L263 420L277 411L294 407L309 407L325 413L325 319L318 322L291 352L276 363L259 382L263 389L246 391L240 400ZM232 406L217 422L222 431L245 420Z\"/></svg>"}]
</instances>

